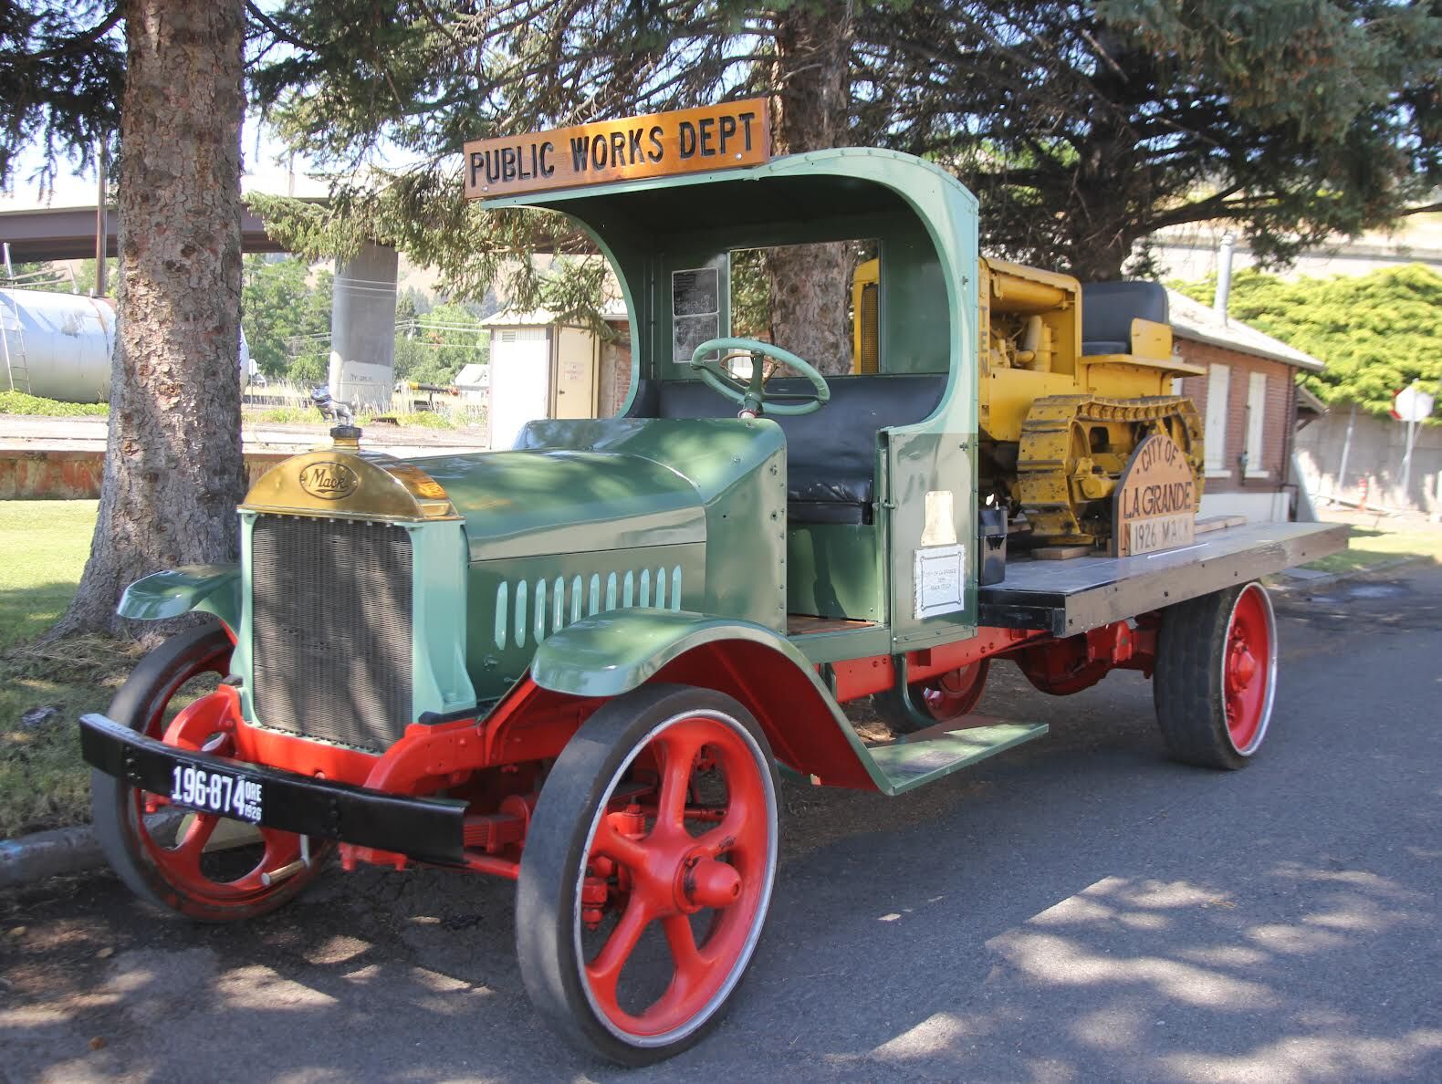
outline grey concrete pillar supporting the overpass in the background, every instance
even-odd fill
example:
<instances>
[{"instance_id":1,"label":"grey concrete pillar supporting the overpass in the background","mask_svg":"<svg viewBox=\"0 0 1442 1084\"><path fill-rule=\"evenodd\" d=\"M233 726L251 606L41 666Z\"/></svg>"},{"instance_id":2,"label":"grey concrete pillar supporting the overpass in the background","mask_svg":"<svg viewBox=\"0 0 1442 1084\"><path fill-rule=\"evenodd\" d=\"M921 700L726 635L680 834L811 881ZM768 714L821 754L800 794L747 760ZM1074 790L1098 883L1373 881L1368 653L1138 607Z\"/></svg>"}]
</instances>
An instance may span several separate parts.
<instances>
[{"instance_id":1,"label":"grey concrete pillar supporting the overpass in the background","mask_svg":"<svg viewBox=\"0 0 1442 1084\"><path fill-rule=\"evenodd\" d=\"M394 248L366 242L336 265L330 301L330 395L355 408L391 405L395 372Z\"/></svg>"}]
</instances>

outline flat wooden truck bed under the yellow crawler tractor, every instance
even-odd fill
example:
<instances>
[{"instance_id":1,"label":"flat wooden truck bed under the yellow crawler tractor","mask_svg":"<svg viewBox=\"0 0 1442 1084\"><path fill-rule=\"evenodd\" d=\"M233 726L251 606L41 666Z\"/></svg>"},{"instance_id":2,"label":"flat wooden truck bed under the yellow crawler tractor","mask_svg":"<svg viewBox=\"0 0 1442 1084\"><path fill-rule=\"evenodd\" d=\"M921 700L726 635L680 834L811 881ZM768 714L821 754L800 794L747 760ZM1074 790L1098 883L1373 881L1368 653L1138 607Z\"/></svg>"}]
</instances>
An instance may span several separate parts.
<instances>
[{"instance_id":1,"label":"flat wooden truck bed under the yellow crawler tractor","mask_svg":"<svg viewBox=\"0 0 1442 1084\"><path fill-rule=\"evenodd\" d=\"M1347 535L1344 523L1246 523L1156 554L1008 561L1002 582L978 590L978 624L1074 636L1335 554Z\"/></svg>"}]
</instances>

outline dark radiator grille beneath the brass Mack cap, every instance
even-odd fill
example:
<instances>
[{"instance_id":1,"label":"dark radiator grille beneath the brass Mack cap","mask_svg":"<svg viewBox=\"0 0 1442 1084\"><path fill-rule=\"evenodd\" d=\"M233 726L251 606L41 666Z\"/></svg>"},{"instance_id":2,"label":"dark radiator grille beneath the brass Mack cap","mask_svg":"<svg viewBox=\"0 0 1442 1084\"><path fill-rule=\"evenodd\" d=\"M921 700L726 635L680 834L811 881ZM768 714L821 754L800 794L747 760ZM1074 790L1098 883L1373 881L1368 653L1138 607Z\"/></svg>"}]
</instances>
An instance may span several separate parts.
<instances>
[{"instance_id":1,"label":"dark radiator grille beneath the brass Mack cap","mask_svg":"<svg viewBox=\"0 0 1442 1084\"><path fill-rule=\"evenodd\" d=\"M273 729L379 751L411 722L411 539L388 523L257 516L252 689Z\"/></svg>"}]
</instances>

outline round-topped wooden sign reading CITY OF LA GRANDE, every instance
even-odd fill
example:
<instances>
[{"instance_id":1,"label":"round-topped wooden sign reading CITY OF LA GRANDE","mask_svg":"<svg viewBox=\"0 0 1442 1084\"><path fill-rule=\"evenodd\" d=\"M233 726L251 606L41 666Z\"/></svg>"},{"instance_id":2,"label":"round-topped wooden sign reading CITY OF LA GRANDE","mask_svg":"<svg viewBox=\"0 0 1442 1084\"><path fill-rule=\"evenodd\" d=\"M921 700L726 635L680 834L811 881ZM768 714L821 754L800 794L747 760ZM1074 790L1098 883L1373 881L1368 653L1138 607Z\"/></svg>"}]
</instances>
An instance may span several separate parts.
<instances>
[{"instance_id":1,"label":"round-topped wooden sign reading CITY OF LA GRANDE","mask_svg":"<svg viewBox=\"0 0 1442 1084\"><path fill-rule=\"evenodd\" d=\"M1162 432L1136 445L1116 484L1113 556L1191 545L1197 481L1177 441Z\"/></svg>"}]
</instances>

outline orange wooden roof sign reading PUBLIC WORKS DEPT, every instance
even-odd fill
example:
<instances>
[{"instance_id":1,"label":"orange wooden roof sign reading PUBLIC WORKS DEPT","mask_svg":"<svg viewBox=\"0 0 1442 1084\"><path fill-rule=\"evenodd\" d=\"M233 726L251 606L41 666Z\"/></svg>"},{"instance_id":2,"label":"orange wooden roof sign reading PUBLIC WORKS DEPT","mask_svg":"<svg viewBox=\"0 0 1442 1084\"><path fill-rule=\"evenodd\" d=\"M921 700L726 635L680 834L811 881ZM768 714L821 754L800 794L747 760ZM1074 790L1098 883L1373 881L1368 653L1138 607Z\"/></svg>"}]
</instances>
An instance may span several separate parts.
<instances>
[{"instance_id":1,"label":"orange wooden roof sign reading PUBLIC WORKS DEPT","mask_svg":"<svg viewBox=\"0 0 1442 1084\"><path fill-rule=\"evenodd\" d=\"M653 112L466 144L466 197L669 177L771 157L766 98Z\"/></svg>"}]
</instances>

